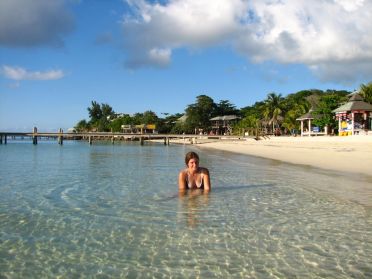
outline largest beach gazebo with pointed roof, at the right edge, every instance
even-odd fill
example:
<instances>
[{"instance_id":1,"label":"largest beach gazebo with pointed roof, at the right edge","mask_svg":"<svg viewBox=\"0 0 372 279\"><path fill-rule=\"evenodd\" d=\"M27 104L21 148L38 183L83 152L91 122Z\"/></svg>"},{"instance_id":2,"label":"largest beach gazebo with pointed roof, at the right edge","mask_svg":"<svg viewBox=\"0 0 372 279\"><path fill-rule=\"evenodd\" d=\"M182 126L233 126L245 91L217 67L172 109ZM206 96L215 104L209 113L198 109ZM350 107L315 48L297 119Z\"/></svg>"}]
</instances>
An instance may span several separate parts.
<instances>
[{"instance_id":1,"label":"largest beach gazebo with pointed roof, at the right edge","mask_svg":"<svg viewBox=\"0 0 372 279\"><path fill-rule=\"evenodd\" d=\"M349 102L333 110L340 136L368 134L372 130L372 105L364 102L358 92L350 94Z\"/></svg>"}]
</instances>

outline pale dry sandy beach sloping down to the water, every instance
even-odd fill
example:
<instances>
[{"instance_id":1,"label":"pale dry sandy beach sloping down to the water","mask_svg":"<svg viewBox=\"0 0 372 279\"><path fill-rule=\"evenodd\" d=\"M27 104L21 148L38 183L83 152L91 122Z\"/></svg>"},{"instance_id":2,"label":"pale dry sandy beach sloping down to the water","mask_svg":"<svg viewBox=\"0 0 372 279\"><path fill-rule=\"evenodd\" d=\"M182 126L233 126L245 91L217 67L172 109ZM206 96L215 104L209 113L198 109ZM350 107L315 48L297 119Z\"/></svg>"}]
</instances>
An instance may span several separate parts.
<instances>
[{"instance_id":1,"label":"pale dry sandy beach sloping down to the water","mask_svg":"<svg viewBox=\"0 0 372 279\"><path fill-rule=\"evenodd\" d=\"M214 142L200 147L372 176L372 135L354 137L270 137L268 139Z\"/></svg>"}]
</instances>

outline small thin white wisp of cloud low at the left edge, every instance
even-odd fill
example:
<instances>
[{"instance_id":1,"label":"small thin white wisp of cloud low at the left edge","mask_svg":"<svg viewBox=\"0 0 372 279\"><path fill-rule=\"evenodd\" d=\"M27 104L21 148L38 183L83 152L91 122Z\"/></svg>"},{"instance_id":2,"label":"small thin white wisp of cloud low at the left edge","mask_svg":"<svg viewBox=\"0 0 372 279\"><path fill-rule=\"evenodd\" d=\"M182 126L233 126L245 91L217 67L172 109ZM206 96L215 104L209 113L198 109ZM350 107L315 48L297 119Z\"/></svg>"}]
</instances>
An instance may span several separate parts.
<instances>
[{"instance_id":1,"label":"small thin white wisp of cloud low at the left edge","mask_svg":"<svg viewBox=\"0 0 372 279\"><path fill-rule=\"evenodd\" d=\"M22 67L11 67L4 65L2 66L1 73L4 77L12 80L56 80L61 79L65 76L61 70L49 70L49 71L27 71Z\"/></svg>"}]
</instances>

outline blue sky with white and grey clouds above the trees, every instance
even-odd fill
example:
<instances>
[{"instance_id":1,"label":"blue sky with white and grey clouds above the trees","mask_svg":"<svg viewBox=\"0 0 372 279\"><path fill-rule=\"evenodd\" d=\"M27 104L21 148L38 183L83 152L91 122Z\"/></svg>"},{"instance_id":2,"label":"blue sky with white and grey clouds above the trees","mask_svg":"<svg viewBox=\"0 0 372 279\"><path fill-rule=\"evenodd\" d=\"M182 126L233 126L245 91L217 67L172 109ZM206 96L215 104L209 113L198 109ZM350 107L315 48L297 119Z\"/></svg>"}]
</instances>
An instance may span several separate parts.
<instances>
[{"instance_id":1,"label":"blue sky with white and grey clouds above the trees","mask_svg":"<svg viewBox=\"0 0 372 279\"><path fill-rule=\"evenodd\" d=\"M0 0L0 131L372 81L371 0Z\"/></svg>"}]
</instances>

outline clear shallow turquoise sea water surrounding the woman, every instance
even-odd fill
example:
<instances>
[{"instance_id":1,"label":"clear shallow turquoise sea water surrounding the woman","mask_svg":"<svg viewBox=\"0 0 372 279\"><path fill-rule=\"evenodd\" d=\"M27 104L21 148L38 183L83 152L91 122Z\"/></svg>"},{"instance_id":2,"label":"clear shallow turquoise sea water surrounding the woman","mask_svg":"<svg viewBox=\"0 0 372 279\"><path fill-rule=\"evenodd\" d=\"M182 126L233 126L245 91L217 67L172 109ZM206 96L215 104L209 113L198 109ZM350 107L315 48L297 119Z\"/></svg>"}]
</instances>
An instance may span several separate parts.
<instances>
[{"instance_id":1,"label":"clear shallow turquoise sea water surrounding the woman","mask_svg":"<svg viewBox=\"0 0 372 279\"><path fill-rule=\"evenodd\" d=\"M190 149L208 195L178 196ZM9 140L0 278L372 278L372 208L332 190L371 183L193 146Z\"/></svg>"}]
</instances>

